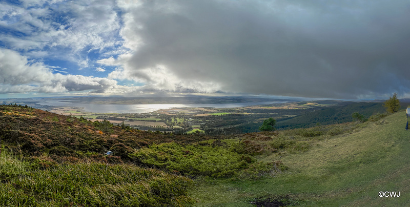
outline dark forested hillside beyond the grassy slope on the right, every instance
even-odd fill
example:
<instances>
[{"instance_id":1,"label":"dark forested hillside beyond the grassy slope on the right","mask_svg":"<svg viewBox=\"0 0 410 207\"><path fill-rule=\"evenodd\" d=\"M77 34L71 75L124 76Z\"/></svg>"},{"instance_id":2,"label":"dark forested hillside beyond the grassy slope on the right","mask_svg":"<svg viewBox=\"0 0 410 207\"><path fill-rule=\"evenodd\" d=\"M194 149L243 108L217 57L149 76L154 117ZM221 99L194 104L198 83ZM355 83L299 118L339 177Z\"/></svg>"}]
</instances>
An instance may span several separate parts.
<instances>
[{"instance_id":1,"label":"dark forested hillside beyond the grassy slope on the right","mask_svg":"<svg viewBox=\"0 0 410 207\"><path fill-rule=\"evenodd\" d=\"M289 106L290 105L290 106ZM206 134L235 134L257 132L264 119L274 117L277 120L276 129L309 128L317 125L333 125L352 121L352 114L358 112L365 118L386 109L382 102L352 102L321 100L315 102L293 102L281 109L270 109L277 105L267 105L268 108L247 109L249 114L235 114L210 117L210 121L203 123L201 128ZM406 103L402 104L405 109ZM292 107L291 107L292 106ZM286 107L286 108L285 108ZM234 127L232 127L234 126Z\"/></svg>"}]
</instances>

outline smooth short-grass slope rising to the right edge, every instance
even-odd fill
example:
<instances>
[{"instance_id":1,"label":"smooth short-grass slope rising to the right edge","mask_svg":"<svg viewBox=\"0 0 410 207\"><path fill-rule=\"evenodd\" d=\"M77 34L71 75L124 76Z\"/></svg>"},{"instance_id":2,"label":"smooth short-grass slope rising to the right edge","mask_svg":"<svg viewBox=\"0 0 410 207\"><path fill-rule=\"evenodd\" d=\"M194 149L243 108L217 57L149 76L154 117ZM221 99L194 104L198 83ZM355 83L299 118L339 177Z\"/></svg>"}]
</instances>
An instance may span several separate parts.
<instances>
[{"instance_id":1,"label":"smooth short-grass slope rising to the right edge","mask_svg":"<svg viewBox=\"0 0 410 207\"><path fill-rule=\"evenodd\" d=\"M305 153L261 157L281 159L290 169L259 180L197 182L192 196L198 205L249 206L247 199L273 195L314 206L409 205L410 132L405 122L402 111L318 142ZM400 191L400 197L380 198L379 191Z\"/></svg>"}]
</instances>

